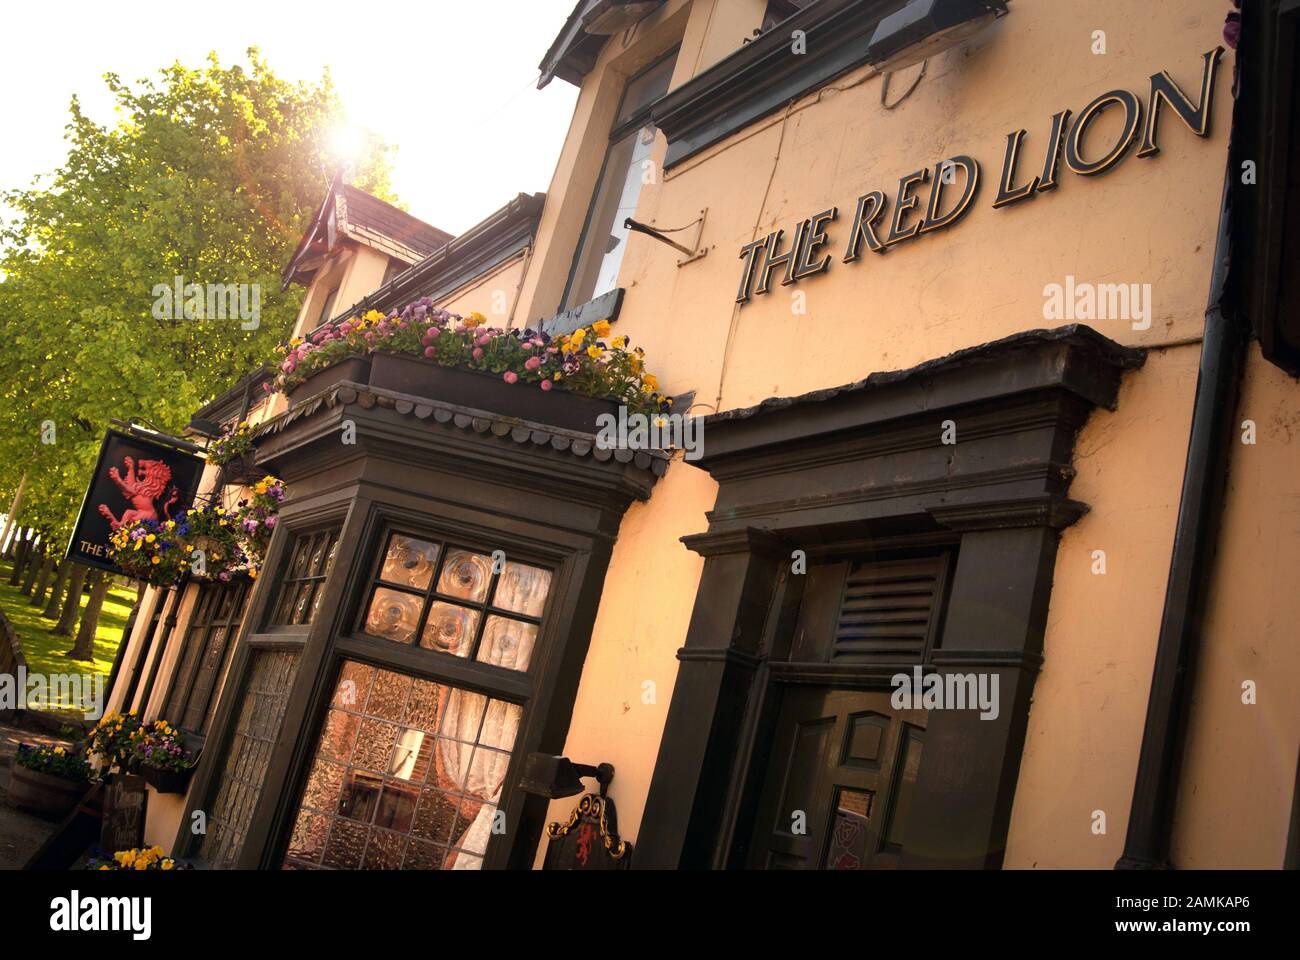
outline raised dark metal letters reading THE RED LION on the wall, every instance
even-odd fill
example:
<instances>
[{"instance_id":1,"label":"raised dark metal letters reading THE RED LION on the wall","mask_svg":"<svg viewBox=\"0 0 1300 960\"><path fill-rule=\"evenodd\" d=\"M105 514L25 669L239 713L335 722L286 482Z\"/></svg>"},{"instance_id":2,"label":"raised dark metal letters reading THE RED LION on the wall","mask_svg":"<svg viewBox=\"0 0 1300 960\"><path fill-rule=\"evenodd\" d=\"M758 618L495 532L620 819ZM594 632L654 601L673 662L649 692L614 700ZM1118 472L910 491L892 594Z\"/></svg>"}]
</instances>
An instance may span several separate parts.
<instances>
[{"instance_id":1,"label":"raised dark metal letters reading THE RED LION on the wall","mask_svg":"<svg viewBox=\"0 0 1300 960\"><path fill-rule=\"evenodd\" d=\"M1214 78L1222 56L1222 47L1205 53L1200 92L1195 101L1182 91L1167 70L1161 70L1150 77L1145 111L1138 95L1128 90L1101 94L1072 122L1071 112L1062 109L1045 125L1046 135L1039 155L1028 163L1022 163L1028 131L1013 130L1006 135L997 196L992 206L1009 207L1056 189L1062 160L1071 173L1096 177L1118 167L1134 143L1139 144L1136 156L1154 156L1160 152L1162 107L1169 107L1197 137L1209 137ZM1123 124L1113 143L1100 144L1096 142L1097 135L1089 135L1089 130L1108 109L1118 111ZM853 226L844 241L840 263L859 260L863 248L885 254L898 243L954 225L971 211L979 190L979 163L970 156L957 155L940 160L933 170L922 167L904 174L892 196L881 190L863 194L854 204ZM748 303L753 297L766 294L774 278L781 286L788 286L828 271L835 260L828 250L832 243L829 228L838 216L838 208L831 207L798 221L789 238L785 230L774 230L742 246L736 302Z\"/></svg>"}]
</instances>

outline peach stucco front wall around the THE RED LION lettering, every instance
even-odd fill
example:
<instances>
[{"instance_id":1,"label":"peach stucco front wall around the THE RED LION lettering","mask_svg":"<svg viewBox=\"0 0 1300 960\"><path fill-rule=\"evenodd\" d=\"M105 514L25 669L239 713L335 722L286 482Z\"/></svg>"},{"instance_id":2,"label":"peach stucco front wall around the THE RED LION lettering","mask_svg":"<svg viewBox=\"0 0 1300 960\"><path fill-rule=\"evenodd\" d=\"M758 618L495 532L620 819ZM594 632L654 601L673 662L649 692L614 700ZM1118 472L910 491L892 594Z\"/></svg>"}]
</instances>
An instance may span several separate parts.
<instances>
[{"instance_id":1,"label":"peach stucco front wall around the THE RED LION lettering","mask_svg":"<svg viewBox=\"0 0 1300 960\"><path fill-rule=\"evenodd\" d=\"M1092 511L1061 544L1008 851L1011 866L1109 868L1123 846L1164 602L1234 55L1219 66L1209 139L1192 135L1166 109L1160 155L1130 152L1114 170L1091 178L1062 164L1056 191L993 209L1009 131L1028 130L1022 170L1036 173L1049 120L1062 108L1078 113L1115 87L1145 105L1149 75L1161 69L1195 96L1202 55L1221 43L1225 13L1217 0L1015 0L1011 7L975 40L932 59L915 91L893 109L880 103L880 78L863 68L646 186L636 213L645 222L676 226L707 207L701 243L708 252L679 267L679 254L633 235L616 332L645 347L668 393L697 390L697 410L707 412L1060 325L1044 319L1044 286L1063 284L1067 274L1152 285L1149 329L1134 329L1130 320L1091 324L1152 354L1127 375L1119 408L1096 414L1079 438L1071 494ZM675 85L690 74L681 59L707 61L701 51L720 43L701 26L710 8L697 4L690 12ZM1106 34L1105 55L1092 52L1096 30ZM528 316L554 310L563 282L556 276L560 265L567 273L573 250L566 238L576 235L564 225L573 206L567 191L590 194L594 174L585 164L603 150L614 96L608 77L618 75L618 59L629 56L607 49L578 99L524 284ZM916 72L892 79L890 99ZM1091 142L1108 144L1117 120L1102 114ZM660 137L655 156L664 150ZM884 256L864 252L859 263L840 263L859 194L879 189L892 200L901 176L957 153L982 165L982 189L965 220ZM927 194L928 187L923 200ZM564 209L552 211L552 203ZM840 209L831 271L793 287L774 284L772 293L737 307L740 247L777 228L789 235L800 219L831 206ZM806 312L794 308L796 294ZM699 571L677 537L705 528L711 500L711 481L679 462L651 501L628 513L566 747L575 760L616 765L611 792L621 831L633 839L671 700L660 678L675 675ZM1097 549L1106 552L1104 576L1092 574ZM647 679L656 683L654 708L638 696ZM1294 778L1294 749L1290 765L1290 774L1282 773ZM559 801L551 813L559 817L568 807ZM1092 833L1098 809L1108 818L1104 835ZM1279 849L1275 838L1269 843Z\"/></svg>"}]
</instances>

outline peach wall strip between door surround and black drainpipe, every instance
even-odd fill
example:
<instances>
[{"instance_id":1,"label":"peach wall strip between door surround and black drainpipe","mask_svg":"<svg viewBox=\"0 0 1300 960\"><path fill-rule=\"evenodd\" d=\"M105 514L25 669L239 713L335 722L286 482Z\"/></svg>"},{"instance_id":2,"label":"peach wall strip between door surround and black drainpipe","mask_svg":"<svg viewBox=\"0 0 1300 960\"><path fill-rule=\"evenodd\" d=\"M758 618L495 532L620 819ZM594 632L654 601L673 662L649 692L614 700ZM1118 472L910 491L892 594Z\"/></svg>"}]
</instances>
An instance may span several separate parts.
<instances>
[{"instance_id":1,"label":"peach wall strip between door surround and black drainpipe","mask_svg":"<svg viewBox=\"0 0 1300 960\"><path fill-rule=\"evenodd\" d=\"M1109 869L1123 851L1199 359L1199 345L1153 350L1075 445L1070 496L1091 510L1057 553L1009 868Z\"/></svg>"}]
</instances>

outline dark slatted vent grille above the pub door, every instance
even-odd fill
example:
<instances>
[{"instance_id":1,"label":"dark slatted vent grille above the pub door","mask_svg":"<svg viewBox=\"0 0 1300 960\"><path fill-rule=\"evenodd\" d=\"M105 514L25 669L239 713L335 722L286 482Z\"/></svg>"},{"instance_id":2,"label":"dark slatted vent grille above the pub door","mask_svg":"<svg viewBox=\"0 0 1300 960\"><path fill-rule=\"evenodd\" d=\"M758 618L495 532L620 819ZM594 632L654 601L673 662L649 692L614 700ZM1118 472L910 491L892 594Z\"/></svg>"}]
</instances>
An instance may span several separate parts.
<instances>
[{"instance_id":1,"label":"dark slatted vent grille above the pub door","mask_svg":"<svg viewBox=\"0 0 1300 960\"><path fill-rule=\"evenodd\" d=\"M832 656L918 657L935 628L946 555L854 563Z\"/></svg>"}]
</instances>

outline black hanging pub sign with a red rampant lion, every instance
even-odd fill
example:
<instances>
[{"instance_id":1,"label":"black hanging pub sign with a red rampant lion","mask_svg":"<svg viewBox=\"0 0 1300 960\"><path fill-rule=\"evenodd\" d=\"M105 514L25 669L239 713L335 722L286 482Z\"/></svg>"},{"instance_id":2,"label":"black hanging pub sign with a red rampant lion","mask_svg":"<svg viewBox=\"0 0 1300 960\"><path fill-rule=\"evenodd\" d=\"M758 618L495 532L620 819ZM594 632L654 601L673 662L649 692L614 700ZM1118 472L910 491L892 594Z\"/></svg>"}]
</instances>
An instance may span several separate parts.
<instances>
[{"instance_id":1,"label":"black hanging pub sign with a red rampant lion","mask_svg":"<svg viewBox=\"0 0 1300 960\"><path fill-rule=\"evenodd\" d=\"M68 559L124 572L109 559L108 540L136 520L166 523L194 503L204 460L143 437L108 431L82 501Z\"/></svg>"}]
</instances>

